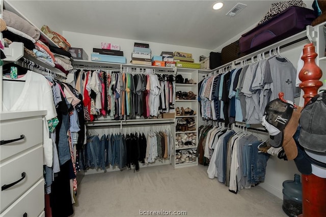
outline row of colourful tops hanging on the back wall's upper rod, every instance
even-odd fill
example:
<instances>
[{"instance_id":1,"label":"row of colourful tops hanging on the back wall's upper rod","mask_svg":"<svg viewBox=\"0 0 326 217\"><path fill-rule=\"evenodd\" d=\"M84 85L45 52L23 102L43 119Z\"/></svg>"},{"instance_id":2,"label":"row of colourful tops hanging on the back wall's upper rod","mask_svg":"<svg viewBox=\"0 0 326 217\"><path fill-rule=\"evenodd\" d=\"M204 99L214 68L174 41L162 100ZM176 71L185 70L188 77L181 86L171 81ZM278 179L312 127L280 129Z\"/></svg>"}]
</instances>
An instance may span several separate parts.
<instances>
[{"instance_id":1,"label":"row of colourful tops hanging on the back wall's upper rod","mask_svg":"<svg viewBox=\"0 0 326 217\"><path fill-rule=\"evenodd\" d=\"M144 74L143 74L143 73ZM76 89L83 93L86 120L141 119L174 112L174 77L153 70L133 72L77 70Z\"/></svg>"}]
</instances>

